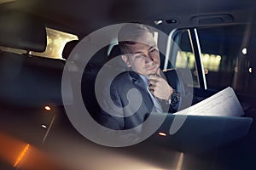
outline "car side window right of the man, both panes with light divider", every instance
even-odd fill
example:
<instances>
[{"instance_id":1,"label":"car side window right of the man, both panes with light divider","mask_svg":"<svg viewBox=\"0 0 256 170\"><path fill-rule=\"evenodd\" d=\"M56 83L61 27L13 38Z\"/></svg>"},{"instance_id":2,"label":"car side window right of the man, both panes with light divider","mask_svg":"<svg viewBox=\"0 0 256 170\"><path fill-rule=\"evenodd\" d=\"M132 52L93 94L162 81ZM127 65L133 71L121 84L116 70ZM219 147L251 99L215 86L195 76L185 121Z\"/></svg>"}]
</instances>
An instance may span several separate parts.
<instances>
[{"instance_id":1,"label":"car side window right of the man, both panes with light divider","mask_svg":"<svg viewBox=\"0 0 256 170\"><path fill-rule=\"evenodd\" d=\"M237 83L241 83L237 82L236 74L238 67L241 67L241 57L246 53L246 44L244 44L246 29L245 25L237 25L177 30L173 39L176 40L179 37L176 42L180 49L175 55L175 66L182 69L188 63L193 75L193 85L200 87L195 62L195 55L198 55L207 88L220 90L230 86L236 89ZM193 43L196 42L191 38L191 31L194 31L198 38L199 54L195 54ZM245 61L242 65L243 67L246 65ZM247 70L249 71L244 68L242 71ZM245 89L240 89L242 90Z\"/></svg>"}]
</instances>

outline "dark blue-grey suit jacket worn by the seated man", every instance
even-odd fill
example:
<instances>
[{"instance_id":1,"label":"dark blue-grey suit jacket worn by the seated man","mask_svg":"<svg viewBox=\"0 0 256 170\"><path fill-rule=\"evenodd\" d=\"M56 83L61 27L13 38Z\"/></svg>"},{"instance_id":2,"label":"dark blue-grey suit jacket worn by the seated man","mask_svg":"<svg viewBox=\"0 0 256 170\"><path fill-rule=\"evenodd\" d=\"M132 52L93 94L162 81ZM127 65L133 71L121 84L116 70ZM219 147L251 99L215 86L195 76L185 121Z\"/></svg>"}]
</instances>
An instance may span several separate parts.
<instances>
[{"instance_id":1,"label":"dark blue-grey suit jacket worn by the seated man","mask_svg":"<svg viewBox=\"0 0 256 170\"><path fill-rule=\"evenodd\" d=\"M183 91L183 84L179 82L175 70L161 72L161 74L162 77L166 77L166 81L172 88L177 89L178 92ZM131 89L137 89L139 93L131 92ZM127 97L129 91L131 92L130 101ZM140 102L139 95L142 97L142 101L137 107L134 105L138 105L137 103ZM109 110L102 110L97 117L97 122L108 128L123 130L137 127L137 125L145 121L146 115L151 113L154 108L153 101L145 88L143 79L134 71L122 72L113 79L110 86L110 96L113 103L112 101L104 102ZM167 105L166 101L161 101L160 103L164 112L173 113L176 111L174 105ZM113 104L114 107L118 106L120 110L115 111Z\"/></svg>"}]
</instances>

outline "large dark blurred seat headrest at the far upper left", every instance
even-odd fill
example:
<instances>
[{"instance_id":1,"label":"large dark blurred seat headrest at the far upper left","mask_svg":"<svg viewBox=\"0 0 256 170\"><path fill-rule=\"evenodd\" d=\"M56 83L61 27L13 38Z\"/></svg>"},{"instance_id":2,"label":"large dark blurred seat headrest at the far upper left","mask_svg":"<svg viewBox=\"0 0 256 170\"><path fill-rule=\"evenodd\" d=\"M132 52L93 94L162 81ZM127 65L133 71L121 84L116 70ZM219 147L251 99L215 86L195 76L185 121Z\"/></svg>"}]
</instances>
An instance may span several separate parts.
<instances>
[{"instance_id":1,"label":"large dark blurred seat headrest at the far upper left","mask_svg":"<svg viewBox=\"0 0 256 170\"><path fill-rule=\"evenodd\" d=\"M44 24L29 14L8 11L0 14L0 45L44 52L47 44Z\"/></svg>"}]
</instances>

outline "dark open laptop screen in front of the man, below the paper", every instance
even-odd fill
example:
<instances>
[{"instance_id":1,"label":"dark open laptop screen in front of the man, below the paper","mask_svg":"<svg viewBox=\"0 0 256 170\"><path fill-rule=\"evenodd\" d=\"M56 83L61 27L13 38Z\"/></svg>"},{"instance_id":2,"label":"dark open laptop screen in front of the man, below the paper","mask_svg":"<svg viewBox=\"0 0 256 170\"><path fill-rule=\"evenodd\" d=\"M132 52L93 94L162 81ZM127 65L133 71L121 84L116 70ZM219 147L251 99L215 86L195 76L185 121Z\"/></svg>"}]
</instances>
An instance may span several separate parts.
<instances>
[{"instance_id":1,"label":"dark open laptop screen in front of the man, below the paper","mask_svg":"<svg viewBox=\"0 0 256 170\"><path fill-rule=\"evenodd\" d=\"M183 116L151 114L152 120L165 121L147 140L184 153L200 154L242 139L253 122L251 117L239 116ZM174 121L175 120L175 121ZM150 129L143 124L143 131Z\"/></svg>"}]
</instances>

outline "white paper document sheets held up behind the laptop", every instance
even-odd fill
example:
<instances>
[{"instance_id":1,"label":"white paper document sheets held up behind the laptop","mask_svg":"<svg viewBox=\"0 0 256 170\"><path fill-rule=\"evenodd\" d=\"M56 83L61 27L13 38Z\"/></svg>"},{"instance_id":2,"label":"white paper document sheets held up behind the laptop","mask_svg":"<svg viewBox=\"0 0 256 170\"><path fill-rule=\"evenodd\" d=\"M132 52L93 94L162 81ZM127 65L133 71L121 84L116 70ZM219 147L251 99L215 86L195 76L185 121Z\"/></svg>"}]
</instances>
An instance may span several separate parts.
<instances>
[{"instance_id":1,"label":"white paper document sheets held up behind the laptop","mask_svg":"<svg viewBox=\"0 0 256 170\"><path fill-rule=\"evenodd\" d=\"M233 88L214 94L211 97L202 100L196 105L178 111L176 115L197 115L197 116L242 116L244 111L238 101Z\"/></svg>"}]
</instances>

